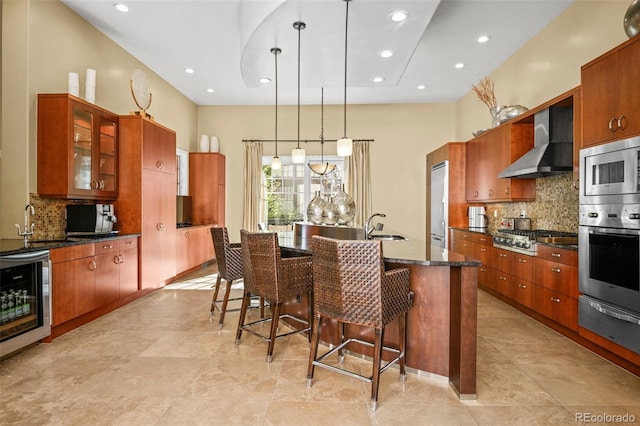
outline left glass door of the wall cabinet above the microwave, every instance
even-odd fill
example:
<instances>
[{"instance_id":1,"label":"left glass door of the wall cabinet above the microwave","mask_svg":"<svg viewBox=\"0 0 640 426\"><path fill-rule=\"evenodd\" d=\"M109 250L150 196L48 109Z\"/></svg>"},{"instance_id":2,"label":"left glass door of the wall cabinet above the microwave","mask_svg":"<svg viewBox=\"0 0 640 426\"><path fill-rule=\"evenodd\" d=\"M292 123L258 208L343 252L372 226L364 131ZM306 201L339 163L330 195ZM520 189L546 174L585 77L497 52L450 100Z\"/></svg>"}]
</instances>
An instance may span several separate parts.
<instances>
[{"instance_id":1,"label":"left glass door of the wall cabinet above the microwave","mask_svg":"<svg viewBox=\"0 0 640 426\"><path fill-rule=\"evenodd\" d=\"M94 114L73 109L73 187L91 190Z\"/></svg>"}]
</instances>

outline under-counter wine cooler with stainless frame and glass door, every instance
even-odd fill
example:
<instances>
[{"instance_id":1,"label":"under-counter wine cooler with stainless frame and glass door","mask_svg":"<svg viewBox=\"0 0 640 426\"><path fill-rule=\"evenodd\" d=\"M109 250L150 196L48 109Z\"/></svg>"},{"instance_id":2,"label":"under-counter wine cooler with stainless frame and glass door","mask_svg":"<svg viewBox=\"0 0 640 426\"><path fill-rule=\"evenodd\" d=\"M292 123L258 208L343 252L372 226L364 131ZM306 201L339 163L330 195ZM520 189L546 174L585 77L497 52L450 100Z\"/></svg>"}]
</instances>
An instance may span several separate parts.
<instances>
[{"instance_id":1,"label":"under-counter wine cooler with stainless frame and glass door","mask_svg":"<svg viewBox=\"0 0 640 426\"><path fill-rule=\"evenodd\" d=\"M0 256L0 357L51 335L49 251Z\"/></svg>"}]
</instances>

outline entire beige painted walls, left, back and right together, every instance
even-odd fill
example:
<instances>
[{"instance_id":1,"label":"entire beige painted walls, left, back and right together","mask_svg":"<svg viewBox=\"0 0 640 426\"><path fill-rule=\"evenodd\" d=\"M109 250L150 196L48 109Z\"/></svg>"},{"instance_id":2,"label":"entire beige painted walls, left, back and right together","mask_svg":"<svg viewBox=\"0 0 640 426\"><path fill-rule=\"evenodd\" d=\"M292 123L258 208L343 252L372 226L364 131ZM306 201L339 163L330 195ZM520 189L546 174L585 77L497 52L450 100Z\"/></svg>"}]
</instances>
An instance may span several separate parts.
<instances>
[{"instance_id":1,"label":"entire beige painted walls, left, back and right together","mask_svg":"<svg viewBox=\"0 0 640 426\"><path fill-rule=\"evenodd\" d=\"M580 65L626 39L622 18L629 4L578 0L491 74L498 101L534 107L579 85ZM220 138L227 156L227 224L237 235L242 224L241 140L273 138L271 107L196 107L59 2L4 0L2 5L3 237L15 237L13 224L22 224L28 194L36 190L35 96L66 92L67 72L79 72L82 81L86 68L97 69L100 106L119 114L134 110L128 81L140 68L154 96L150 113L177 131L179 147L196 150L201 133ZM327 106L325 112L325 136L341 136L340 106ZM283 107L280 114L279 136L294 138L295 107ZM302 137L318 137L319 115L318 107L303 107ZM349 136L375 139L373 205L387 214L387 229L424 238L425 155L448 141L468 140L472 131L489 125L486 107L471 93L455 105L349 106ZM291 148L281 146L280 153ZM335 152L335 145L327 144L325 152Z\"/></svg>"}]
</instances>

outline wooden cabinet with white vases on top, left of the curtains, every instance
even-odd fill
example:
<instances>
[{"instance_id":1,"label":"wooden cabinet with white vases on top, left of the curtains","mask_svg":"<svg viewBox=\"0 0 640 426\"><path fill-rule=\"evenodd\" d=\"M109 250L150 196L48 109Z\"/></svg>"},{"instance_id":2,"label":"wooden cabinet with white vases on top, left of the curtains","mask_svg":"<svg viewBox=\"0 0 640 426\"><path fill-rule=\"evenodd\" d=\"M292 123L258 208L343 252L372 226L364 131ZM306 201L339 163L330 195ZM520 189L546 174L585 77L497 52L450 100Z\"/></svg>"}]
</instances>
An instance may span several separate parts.
<instances>
[{"instance_id":1,"label":"wooden cabinet with white vases on top, left of the curtains","mask_svg":"<svg viewBox=\"0 0 640 426\"><path fill-rule=\"evenodd\" d=\"M224 226L225 156L189 153L189 195L194 225Z\"/></svg>"}]
</instances>

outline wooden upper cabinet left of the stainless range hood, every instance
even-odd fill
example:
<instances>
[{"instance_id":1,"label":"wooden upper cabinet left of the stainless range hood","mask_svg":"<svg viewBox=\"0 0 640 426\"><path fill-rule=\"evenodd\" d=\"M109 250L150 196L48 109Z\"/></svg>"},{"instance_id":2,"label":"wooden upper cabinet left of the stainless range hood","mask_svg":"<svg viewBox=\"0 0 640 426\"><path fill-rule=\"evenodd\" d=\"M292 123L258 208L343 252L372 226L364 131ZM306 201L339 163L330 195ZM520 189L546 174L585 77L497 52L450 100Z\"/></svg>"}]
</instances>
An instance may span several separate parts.
<instances>
[{"instance_id":1,"label":"wooden upper cabinet left of the stainless range hood","mask_svg":"<svg viewBox=\"0 0 640 426\"><path fill-rule=\"evenodd\" d=\"M535 200L535 179L498 178L502 170L533 147L533 125L502 124L467 144L467 202Z\"/></svg>"}]
</instances>

